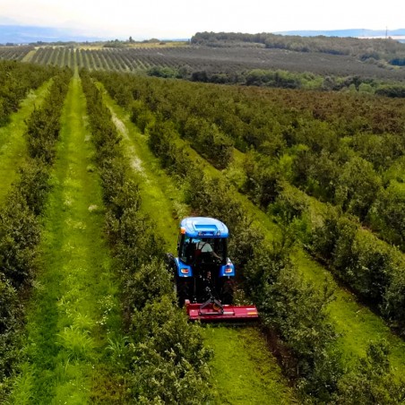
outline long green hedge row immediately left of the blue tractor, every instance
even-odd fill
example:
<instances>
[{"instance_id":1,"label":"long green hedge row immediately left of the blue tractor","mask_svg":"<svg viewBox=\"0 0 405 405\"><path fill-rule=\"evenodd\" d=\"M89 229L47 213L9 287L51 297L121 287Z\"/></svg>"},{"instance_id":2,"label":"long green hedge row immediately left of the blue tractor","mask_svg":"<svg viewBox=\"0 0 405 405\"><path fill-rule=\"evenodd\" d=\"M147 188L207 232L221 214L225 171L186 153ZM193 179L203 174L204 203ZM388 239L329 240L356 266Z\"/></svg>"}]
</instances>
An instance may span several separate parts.
<instances>
[{"instance_id":1,"label":"long green hedge row immediately left of the blue tractor","mask_svg":"<svg viewBox=\"0 0 405 405\"><path fill-rule=\"evenodd\" d=\"M187 323L177 307L162 240L140 210L138 185L111 115L89 75L81 74L107 207L108 240L123 280L130 399L145 404L203 403L211 397L211 350L204 348L199 326Z\"/></svg>"}]
</instances>

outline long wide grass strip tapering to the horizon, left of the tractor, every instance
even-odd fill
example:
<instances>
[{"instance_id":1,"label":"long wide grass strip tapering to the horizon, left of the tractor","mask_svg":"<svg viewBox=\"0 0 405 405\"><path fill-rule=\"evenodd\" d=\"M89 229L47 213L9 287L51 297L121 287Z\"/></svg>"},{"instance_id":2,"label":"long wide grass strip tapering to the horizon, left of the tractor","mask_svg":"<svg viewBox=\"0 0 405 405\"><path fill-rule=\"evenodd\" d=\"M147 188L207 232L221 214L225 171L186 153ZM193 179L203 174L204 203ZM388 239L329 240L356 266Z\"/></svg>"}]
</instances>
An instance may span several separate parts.
<instances>
[{"instance_id":1,"label":"long wide grass strip tapering to the horizon, left of the tractor","mask_svg":"<svg viewBox=\"0 0 405 405\"><path fill-rule=\"evenodd\" d=\"M75 74L44 214L40 270L27 316L28 361L15 403L113 403L121 393L118 376L110 373L117 365L108 363L108 342L120 339L119 283L103 239L85 111Z\"/></svg>"}]
</instances>

